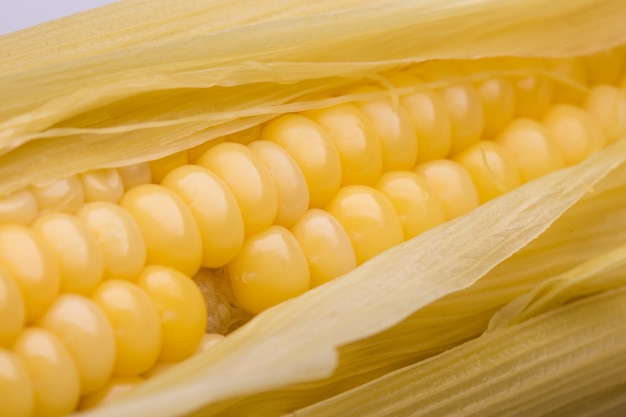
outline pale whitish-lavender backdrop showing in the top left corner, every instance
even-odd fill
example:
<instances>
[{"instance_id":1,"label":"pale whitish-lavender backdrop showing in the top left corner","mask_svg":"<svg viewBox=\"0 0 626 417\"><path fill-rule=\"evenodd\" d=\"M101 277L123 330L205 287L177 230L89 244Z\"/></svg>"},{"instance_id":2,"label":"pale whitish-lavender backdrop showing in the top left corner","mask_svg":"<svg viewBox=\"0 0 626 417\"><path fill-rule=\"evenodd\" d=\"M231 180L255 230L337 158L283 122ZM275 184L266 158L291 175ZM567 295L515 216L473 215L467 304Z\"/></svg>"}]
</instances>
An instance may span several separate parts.
<instances>
[{"instance_id":1,"label":"pale whitish-lavender backdrop showing in the top left corner","mask_svg":"<svg viewBox=\"0 0 626 417\"><path fill-rule=\"evenodd\" d=\"M115 0L0 0L0 35Z\"/></svg>"}]
</instances>

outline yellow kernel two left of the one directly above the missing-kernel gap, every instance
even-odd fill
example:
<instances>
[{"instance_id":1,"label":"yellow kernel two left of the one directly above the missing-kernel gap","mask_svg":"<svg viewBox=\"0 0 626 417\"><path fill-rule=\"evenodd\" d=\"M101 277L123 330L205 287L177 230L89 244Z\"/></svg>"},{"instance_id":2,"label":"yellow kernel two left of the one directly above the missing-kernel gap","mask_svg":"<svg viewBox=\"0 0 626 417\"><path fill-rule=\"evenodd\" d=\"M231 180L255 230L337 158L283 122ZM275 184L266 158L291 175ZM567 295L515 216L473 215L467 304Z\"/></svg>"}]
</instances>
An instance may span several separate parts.
<instances>
[{"instance_id":1,"label":"yellow kernel two left of the one directly above the missing-kernel gap","mask_svg":"<svg viewBox=\"0 0 626 417\"><path fill-rule=\"evenodd\" d=\"M96 238L104 259L104 276L132 280L146 263L146 245L130 214L120 206L96 202L83 205L76 216Z\"/></svg>"}]
</instances>

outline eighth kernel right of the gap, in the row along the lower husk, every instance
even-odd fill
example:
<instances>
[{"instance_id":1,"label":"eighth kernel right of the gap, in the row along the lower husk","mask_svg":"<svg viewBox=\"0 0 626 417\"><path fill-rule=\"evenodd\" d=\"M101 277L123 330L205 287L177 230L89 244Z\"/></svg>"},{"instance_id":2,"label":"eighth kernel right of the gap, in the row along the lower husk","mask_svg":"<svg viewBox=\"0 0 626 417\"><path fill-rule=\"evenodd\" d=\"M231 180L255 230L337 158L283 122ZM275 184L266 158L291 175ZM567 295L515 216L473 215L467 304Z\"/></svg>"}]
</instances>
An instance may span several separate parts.
<instances>
[{"instance_id":1,"label":"eighth kernel right of the gap, in the row along the lower husk","mask_svg":"<svg viewBox=\"0 0 626 417\"><path fill-rule=\"evenodd\" d=\"M543 124L560 148L566 166L584 161L606 144L599 123L586 111L569 104L550 108Z\"/></svg>"}]
</instances>

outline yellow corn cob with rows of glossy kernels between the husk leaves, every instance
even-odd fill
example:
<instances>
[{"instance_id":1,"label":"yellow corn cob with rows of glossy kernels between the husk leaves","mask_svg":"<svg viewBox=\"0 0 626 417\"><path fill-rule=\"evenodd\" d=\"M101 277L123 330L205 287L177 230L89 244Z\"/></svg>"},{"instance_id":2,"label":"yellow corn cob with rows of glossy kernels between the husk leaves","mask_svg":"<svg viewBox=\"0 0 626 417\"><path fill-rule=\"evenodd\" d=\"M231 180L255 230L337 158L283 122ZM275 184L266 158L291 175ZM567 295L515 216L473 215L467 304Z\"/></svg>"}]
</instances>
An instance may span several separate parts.
<instances>
[{"instance_id":1,"label":"yellow corn cob with rows of glossy kernels between the husk leaves","mask_svg":"<svg viewBox=\"0 0 626 417\"><path fill-rule=\"evenodd\" d=\"M67 338L62 329L68 324L57 311L70 299L89 306L101 328L113 330L102 330L109 336L98 343L113 348L103 349L106 369L95 378L87 375L81 356L87 350L65 346L67 354L57 355L74 361L81 381L80 391L70 392L65 404L50 405L46 393L33 391L22 405L31 401L36 413L46 407L52 414L64 413L82 395L90 406L97 397L91 394L110 390L119 377L192 354L200 343L197 329L206 322L197 290L180 284L188 289L184 298L197 301L188 301L195 310L188 316L194 330L167 330L160 310L167 302L159 304L165 296L151 292L146 281L152 270L176 281L172 277L217 268L232 286L234 304L258 313L522 183L584 161L624 134L621 49L607 55L610 65L598 59L603 55L547 63L511 59L503 69L493 60L417 64L383 73L385 88L368 83L335 91L326 97L347 94L345 103L280 116L241 136L150 164L86 171L16 191L0 204L0 213L6 213L0 217L8 219L0 233L5 241L0 259L6 263L6 292L15 294L17 288L27 295L23 306L6 304L17 318L6 332L7 349L19 346L15 340L47 331L50 340L61 341L50 344L62 351ZM562 76L557 69L563 67L578 72ZM489 90L493 85L501 89L495 97ZM607 112L607 107L617 110ZM321 145L305 148L296 135ZM316 166L312 158L320 151L324 161ZM236 164L229 162L233 159ZM216 210L215 198L227 208ZM16 202L22 207L18 211L9 208ZM220 226L222 231L207 232ZM15 262L16 241L28 248L19 253L30 254L30 263L48 265L34 278L46 283L38 287L42 294L24 289L33 277ZM276 242L280 250L271 246ZM81 250L68 252L72 245ZM291 274L285 277L284 270ZM191 282L188 277L178 281ZM107 304L107 292L116 291L143 304L133 312L142 316L142 325L121 318L117 306ZM7 299L15 303L19 297ZM129 328L139 337L115 336ZM176 335L167 338L168 332ZM182 349L165 348L181 340ZM124 353L129 350L137 351ZM17 353L28 364L28 353ZM13 358L8 351L6 357ZM25 383L20 372L16 380ZM28 408L20 407L15 410Z\"/></svg>"}]
</instances>

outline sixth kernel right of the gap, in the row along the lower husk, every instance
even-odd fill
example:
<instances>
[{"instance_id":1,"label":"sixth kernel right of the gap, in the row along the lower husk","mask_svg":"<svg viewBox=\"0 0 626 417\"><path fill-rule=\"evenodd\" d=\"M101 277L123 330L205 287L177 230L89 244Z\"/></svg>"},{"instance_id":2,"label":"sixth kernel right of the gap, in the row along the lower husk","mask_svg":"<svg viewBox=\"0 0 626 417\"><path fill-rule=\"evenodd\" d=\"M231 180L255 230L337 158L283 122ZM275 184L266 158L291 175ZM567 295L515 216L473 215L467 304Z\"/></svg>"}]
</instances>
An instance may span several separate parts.
<instances>
[{"instance_id":1,"label":"sixth kernel right of the gap, in the row along the lower husk","mask_svg":"<svg viewBox=\"0 0 626 417\"><path fill-rule=\"evenodd\" d=\"M454 159L472 177L481 203L522 185L515 160L495 142L480 141Z\"/></svg>"}]
</instances>

